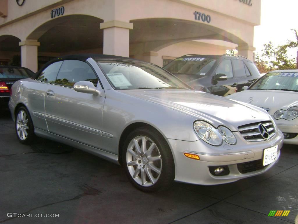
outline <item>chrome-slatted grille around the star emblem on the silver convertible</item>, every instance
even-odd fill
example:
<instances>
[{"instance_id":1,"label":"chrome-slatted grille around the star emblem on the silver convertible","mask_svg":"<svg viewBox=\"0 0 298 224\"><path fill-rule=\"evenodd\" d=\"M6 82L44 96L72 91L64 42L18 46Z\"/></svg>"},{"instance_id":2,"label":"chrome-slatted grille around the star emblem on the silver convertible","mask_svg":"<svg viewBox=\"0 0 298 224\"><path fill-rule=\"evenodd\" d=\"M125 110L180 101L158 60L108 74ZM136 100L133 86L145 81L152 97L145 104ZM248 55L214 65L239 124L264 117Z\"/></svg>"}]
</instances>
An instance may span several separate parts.
<instances>
[{"instance_id":1,"label":"chrome-slatted grille around the star emblem on the silver convertible","mask_svg":"<svg viewBox=\"0 0 298 224\"><path fill-rule=\"evenodd\" d=\"M262 124L266 127L268 131L268 138L264 138L259 130L259 125ZM267 139L270 139L275 134L274 125L271 121L264 121L264 122L258 122L258 123L252 123L249 125L242 125L238 127L238 130L242 137L249 142L259 142L259 141L265 141ZM266 136L265 136L266 137Z\"/></svg>"}]
</instances>

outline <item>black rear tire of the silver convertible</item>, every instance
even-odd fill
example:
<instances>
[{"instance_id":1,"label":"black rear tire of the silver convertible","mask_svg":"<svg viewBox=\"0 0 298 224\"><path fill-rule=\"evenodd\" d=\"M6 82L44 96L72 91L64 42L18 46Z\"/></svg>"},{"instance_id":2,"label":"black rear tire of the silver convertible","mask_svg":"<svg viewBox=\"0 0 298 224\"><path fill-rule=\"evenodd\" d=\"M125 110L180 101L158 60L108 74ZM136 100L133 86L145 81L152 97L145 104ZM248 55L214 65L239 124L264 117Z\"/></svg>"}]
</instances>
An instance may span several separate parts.
<instances>
[{"instance_id":1,"label":"black rear tire of the silver convertible","mask_svg":"<svg viewBox=\"0 0 298 224\"><path fill-rule=\"evenodd\" d=\"M24 139L22 139L22 137L21 137L22 136L22 134L20 134L21 131L18 131L18 127L20 127L20 125L24 126L24 124L18 123L19 113L24 113L23 116L26 116L25 119L28 119L28 121L26 123L28 129L24 128L24 129L26 129L27 136ZM26 127L26 126L24 126L24 127ZM21 142L22 144L30 144L32 142L32 140L35 138L34 126L33 126L33 123L32 123L32 119L30 117L30 113L28 112L27 108L24 107L24 106L19 107L18 110L15 113L15 133L17 135L17 138L18 138L19 142Z\"/></svg>"}]
</instances>

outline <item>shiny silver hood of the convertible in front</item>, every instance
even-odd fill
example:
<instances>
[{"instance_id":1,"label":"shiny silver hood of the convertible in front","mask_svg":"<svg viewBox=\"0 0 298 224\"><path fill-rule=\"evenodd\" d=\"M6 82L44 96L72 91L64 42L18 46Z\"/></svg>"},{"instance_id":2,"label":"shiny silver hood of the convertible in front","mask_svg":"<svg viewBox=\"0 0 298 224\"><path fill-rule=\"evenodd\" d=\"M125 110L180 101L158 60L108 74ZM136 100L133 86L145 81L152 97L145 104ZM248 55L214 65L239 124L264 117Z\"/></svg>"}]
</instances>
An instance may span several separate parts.
<instances>
[{"instance_id":1,"label":"shiny silver hood of the convertible in front","mask_svg":"<svg viewBox=\"0 0 298 224\"><path fill-rule=\"evenodd\" d=\"M215 127L225 125L232 131L238 126L268 121L271 117L260 108L235 102L225 97L194 90L117 90L173 110L198 120L205 120ZM177 118L183 119L183 118ZM194 120L195 120L194 119Z\"/></svg>"}]
</instances>

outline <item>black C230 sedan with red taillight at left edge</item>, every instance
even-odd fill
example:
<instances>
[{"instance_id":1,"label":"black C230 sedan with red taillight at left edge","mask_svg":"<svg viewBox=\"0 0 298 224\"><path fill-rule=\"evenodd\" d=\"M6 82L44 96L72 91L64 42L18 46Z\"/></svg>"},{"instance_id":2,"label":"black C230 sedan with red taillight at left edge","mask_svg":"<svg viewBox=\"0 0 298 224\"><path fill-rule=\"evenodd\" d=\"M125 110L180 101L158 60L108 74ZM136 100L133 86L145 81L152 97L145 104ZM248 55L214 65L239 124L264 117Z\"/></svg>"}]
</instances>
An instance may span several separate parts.
<instances>
[{"instance_id":1,"label":"black C230 sedan with red taillight at left edge","mask_svg":"<svg viewBox=\"0 0 298 224\"><path fill-rule=\"evenodd\" d=\"M19 79L33 77L34 72L28 68L16 66L0 66L0 105L8 107L10 87Z\"/></svg>"}]
</instances>

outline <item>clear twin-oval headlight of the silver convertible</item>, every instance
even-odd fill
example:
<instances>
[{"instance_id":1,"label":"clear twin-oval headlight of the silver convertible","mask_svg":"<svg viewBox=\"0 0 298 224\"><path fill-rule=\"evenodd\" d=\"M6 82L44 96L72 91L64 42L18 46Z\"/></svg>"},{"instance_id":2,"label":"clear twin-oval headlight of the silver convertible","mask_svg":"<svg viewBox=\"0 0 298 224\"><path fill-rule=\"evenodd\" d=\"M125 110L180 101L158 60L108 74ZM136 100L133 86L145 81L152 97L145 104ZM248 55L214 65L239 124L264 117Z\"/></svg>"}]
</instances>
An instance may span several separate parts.
<instances>
[{"instance_id":1,"label":"clear twin-oval headlight of the silver convertible","mask_svg":"<svg viewBox=\"0 0 298 224\"><path fill-rule=\"evenodd\" d=\"M219 146L223 140L231 145L236 144L236 137L232 131L224 126L214 128L207 122L196 121L193 124L193 128L197 135L210 145Z\"/></svg>"}]
</instances>

